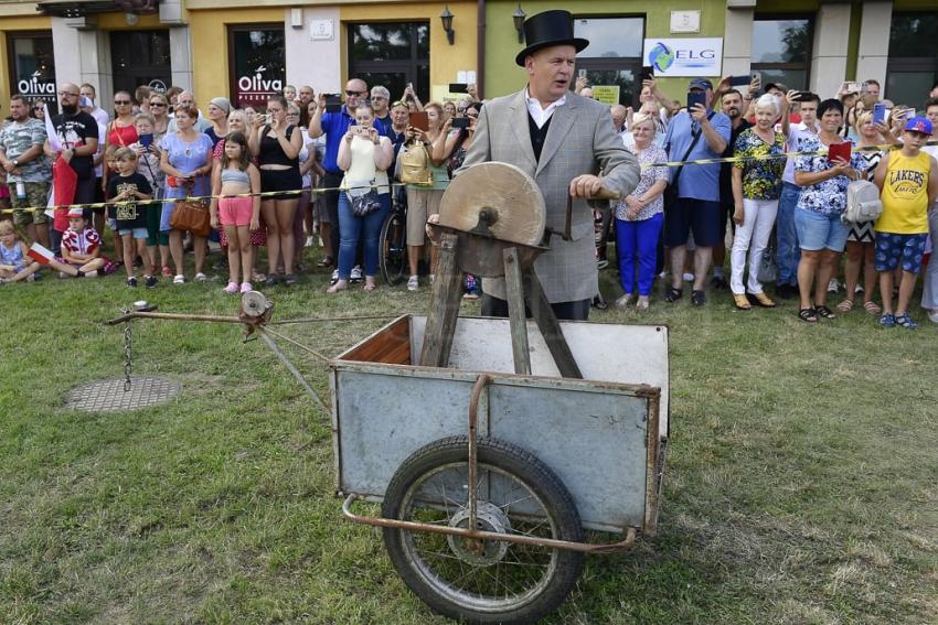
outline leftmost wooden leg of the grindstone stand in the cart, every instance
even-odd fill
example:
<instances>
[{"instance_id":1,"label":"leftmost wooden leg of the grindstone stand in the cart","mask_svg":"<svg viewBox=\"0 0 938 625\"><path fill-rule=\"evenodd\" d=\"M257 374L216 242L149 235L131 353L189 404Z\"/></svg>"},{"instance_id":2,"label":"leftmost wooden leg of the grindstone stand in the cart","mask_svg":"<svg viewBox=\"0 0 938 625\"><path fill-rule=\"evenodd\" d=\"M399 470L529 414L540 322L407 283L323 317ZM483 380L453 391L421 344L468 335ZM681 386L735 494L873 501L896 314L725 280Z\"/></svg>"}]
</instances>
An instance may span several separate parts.
<instances>
[{"instance_id":1,"label":"leftmost wooden leg of the grindstone stand in the cart","mask_svg":"<svg viewBox=\"0 0 938 625\"><path fill-rule=\"evenodd\" d=\"M458 238L455 234L444 233L439 241L434 291L430 299L430 314L424 334L424 347L420 351L420 366L447 367L452 349L452 335L456 332L456 319L462 301L460 280L462 274L456 266Z\"/></svg>"}]
</instances>

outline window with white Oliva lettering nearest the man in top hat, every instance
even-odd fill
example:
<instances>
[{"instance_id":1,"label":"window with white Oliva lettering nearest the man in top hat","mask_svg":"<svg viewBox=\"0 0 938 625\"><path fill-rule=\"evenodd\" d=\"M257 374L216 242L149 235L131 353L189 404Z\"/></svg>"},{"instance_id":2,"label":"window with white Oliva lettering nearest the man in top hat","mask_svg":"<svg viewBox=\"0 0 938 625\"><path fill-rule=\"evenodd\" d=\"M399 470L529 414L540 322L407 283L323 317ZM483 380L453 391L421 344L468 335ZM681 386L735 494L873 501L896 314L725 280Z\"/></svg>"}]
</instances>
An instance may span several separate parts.
<instances>
[{"instance_id":1,"label":"window with white Oliva lettering nearest the man in top hat","mask_svg":"<svg viewBox=\"0 0 938 625\"><path fill-rule=\"evenodd\" d=\"M228 26L231 100L238 107L264 108L284 90L287 63L284 24Z\"/></svg>"}]
</instances>

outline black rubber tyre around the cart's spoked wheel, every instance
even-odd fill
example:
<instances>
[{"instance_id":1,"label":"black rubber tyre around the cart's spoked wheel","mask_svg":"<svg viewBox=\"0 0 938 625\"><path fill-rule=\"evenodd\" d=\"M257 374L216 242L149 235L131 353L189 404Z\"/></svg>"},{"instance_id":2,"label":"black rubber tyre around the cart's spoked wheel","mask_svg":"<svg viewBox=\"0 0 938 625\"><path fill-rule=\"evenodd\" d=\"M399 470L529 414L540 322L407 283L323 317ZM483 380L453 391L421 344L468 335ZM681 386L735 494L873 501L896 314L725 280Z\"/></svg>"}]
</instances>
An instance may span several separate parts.
<instances>
[{"instance_id":1,"label":"black rubber tyre around the cart's spoked wheel","mask_svg":"<svg viewBox=\"0 0 938 625\"><path fill-rule=\"evenodd\" d=\"M545 509L555 518L558 534L554 538L577 542L584 540L576 504L563 482L547 465L520 446L498 439L479 439L477 453L479 465L488 464L510 473L541 498ZM401 518L402 499L416 481L437 466L468 461L468 454L469 440L465 435L440 439L414 452L391 479L382 507L383 516ZM583 569L582 552L557 550L557 565L553 576L536 600L512 611L476 612L439 594L412 567L403 546L404 532L407 530L384 528L383 531L385 549L404 583L435 612L468 623L534 623L566 600Z\"/></svg>"}]
</instances>

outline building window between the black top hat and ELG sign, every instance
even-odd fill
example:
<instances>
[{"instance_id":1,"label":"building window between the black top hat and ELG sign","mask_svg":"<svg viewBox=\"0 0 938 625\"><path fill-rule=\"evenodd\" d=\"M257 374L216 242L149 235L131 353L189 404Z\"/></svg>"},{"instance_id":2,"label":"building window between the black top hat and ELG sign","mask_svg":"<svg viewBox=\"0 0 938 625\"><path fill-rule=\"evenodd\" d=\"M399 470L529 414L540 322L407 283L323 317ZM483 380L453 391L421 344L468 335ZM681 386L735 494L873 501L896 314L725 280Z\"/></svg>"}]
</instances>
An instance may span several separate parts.
<instances>
[{"instance_id":1,"label":"building window between the black top hat and ELG sign","mask_svg":"<svg viewBox=\"0 0 938 625\"><path fill-rule=\"evenodd\" d=\"M591 87L618 87L618 104L637 106L644 18L576 18L574 34L589 41L576 55L577 76Z\"/></svg>"}]
</instances>

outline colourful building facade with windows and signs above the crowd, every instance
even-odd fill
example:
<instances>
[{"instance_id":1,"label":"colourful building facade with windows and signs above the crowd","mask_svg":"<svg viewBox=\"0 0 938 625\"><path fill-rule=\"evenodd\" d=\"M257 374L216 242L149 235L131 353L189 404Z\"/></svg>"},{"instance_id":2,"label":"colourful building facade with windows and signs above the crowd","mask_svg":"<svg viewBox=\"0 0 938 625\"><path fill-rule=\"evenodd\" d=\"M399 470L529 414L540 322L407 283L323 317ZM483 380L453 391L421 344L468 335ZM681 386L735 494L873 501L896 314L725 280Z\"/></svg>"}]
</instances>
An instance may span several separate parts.
<instances>
[{"instance_id":1,"label":"colourful building facade with windows and signs above the crowd","mask_svg":"<svg viewBox=\"0 0 938 625\"><path fill-rule=\"evenodd\" d=\"M518 0L0 0L0 91L55 103L56 82L117 89L179 85L201 101L263 105L287 84L338 93L347 76L424 98L478 83L484 97L523 87L514 65ZM584 0L565 6L590 46L578 72L609 101L635 104L644 67L683 97L690 76L746 75L830 96L876 79L915 106L938 79L935 0ZM448 15L448 20L443 17ZM448 26L445 28L445 26ZM0 106L6 106L0 98Z\"/></svg>"}]
</instances>

